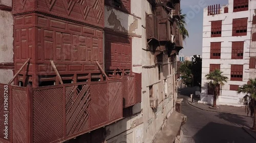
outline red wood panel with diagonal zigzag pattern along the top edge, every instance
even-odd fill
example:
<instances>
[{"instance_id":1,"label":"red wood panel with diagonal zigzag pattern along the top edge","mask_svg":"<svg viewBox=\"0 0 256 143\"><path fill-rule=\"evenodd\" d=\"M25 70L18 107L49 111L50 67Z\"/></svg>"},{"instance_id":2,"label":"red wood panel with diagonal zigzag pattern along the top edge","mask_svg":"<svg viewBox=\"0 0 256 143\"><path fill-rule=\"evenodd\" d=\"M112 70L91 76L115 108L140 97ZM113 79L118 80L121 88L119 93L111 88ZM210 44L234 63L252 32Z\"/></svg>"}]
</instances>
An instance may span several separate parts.
<instances>
[{"instance_id":1,"label":"red wood panel with diagonal zigzag pattern along the top edge","mask_svg":"<svg viewBox=\"0 0 256 143\"><path fill-rule=\"evenodd\" d=\"M104 0L12 0L12 2L14 15L38 11L104 27Z\"/></svg>"}]
</instances>

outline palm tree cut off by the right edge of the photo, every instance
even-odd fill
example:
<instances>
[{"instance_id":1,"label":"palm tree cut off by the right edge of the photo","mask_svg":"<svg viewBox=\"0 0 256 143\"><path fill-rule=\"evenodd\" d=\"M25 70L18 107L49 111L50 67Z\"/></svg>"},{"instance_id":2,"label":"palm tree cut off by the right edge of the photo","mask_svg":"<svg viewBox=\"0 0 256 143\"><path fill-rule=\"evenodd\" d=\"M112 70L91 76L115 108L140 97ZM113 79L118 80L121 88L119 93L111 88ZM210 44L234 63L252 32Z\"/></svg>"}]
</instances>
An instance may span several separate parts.
<instances>
[{"instance_id":1,"label":"palm tree cut off by the right edge of the photo","mask_svg":"<svg viewBox=\"0 0 256 143\"><path fill-rule=\"evenodd\" d=\"M253 118L252 130L256 131L256 78L249 79L247 84L239 87L238 93L245 93L243 100L245 102L245 111L247 116L250 112L250 117Z\"/></svg>"}]
</instances>

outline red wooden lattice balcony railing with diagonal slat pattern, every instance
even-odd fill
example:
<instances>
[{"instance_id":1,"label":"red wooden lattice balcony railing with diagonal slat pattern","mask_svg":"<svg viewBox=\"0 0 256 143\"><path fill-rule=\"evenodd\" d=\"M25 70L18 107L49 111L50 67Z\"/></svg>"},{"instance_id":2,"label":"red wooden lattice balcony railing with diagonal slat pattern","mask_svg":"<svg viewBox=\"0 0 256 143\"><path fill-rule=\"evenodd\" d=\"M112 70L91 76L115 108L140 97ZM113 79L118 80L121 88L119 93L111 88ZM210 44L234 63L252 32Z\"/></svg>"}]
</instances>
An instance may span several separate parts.
<instances>
[{"instance_id":1,"label":"red wooden lattice balcony railing with diagonal slat pattern","mask_svg":"<svg viewBox=\"0 0 256 143\"><path fill-rule=\"evenodd\" d=\"M122 119L124 107L141 102L141 74L38 88L0 84L0 94L8 101L0 105L7 114L0 142L60 142Z\"/></svg>"}]
</instances>

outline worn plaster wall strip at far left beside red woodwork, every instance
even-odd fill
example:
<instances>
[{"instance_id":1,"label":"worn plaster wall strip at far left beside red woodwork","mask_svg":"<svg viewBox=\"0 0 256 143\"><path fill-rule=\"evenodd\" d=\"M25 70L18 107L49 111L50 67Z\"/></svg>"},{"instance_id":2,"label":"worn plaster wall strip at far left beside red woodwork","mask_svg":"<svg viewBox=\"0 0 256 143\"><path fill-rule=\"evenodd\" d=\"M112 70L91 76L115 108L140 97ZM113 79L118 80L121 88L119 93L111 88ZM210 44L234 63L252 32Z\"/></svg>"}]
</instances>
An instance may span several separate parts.
<instances>
[{"instance_id":1,"label":"worn plaster wall strip at far left beside red woodwork","mask_svg":"<svg viewBox=\"0 0 256 143\"><path fill-rule=\"evenodd\" d=\"M12 2L2 0L0 5L11 7ZM0 65L13 63L13 17L10 11L0 10L0 32ZM0 83L8 83L13 72L3 68L0 68Z\"/></svg>"}]
</instances>

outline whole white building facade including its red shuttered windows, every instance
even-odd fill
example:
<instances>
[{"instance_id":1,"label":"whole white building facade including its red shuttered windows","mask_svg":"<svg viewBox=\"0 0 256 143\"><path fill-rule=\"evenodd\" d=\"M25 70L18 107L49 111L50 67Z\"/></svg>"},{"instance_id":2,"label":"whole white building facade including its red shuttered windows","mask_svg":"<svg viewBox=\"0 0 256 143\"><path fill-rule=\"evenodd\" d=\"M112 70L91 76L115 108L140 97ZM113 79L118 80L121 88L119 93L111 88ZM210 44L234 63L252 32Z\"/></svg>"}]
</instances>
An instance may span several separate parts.
<instances>
[{"instance_id":1,"label":"whole white building facade including its red shuttered windows","mask_svg":"<svg viewBox=\"0 0 256 143\"><path fill-rule=\"evenodd\" d=\"M228 77L217 99L217 105L243 105L243 94L237 94L239 86L247 83L255 69L250 60L253 44L252 27L256 1L229 0L228 5L208 6L203 13L202 91L200 103L211 103L205 75L220 69ZM255 20L254 20L255 21ZM255 44L254 44L255 45ZM255 47L255 46L254 46ZM254 50L255 51L255 50ZM253 52L255 53L255 52ZM249 67L254 62L254 69ZM253 65L253 64L252 64Z\"/></svg>"}]
</instances>

